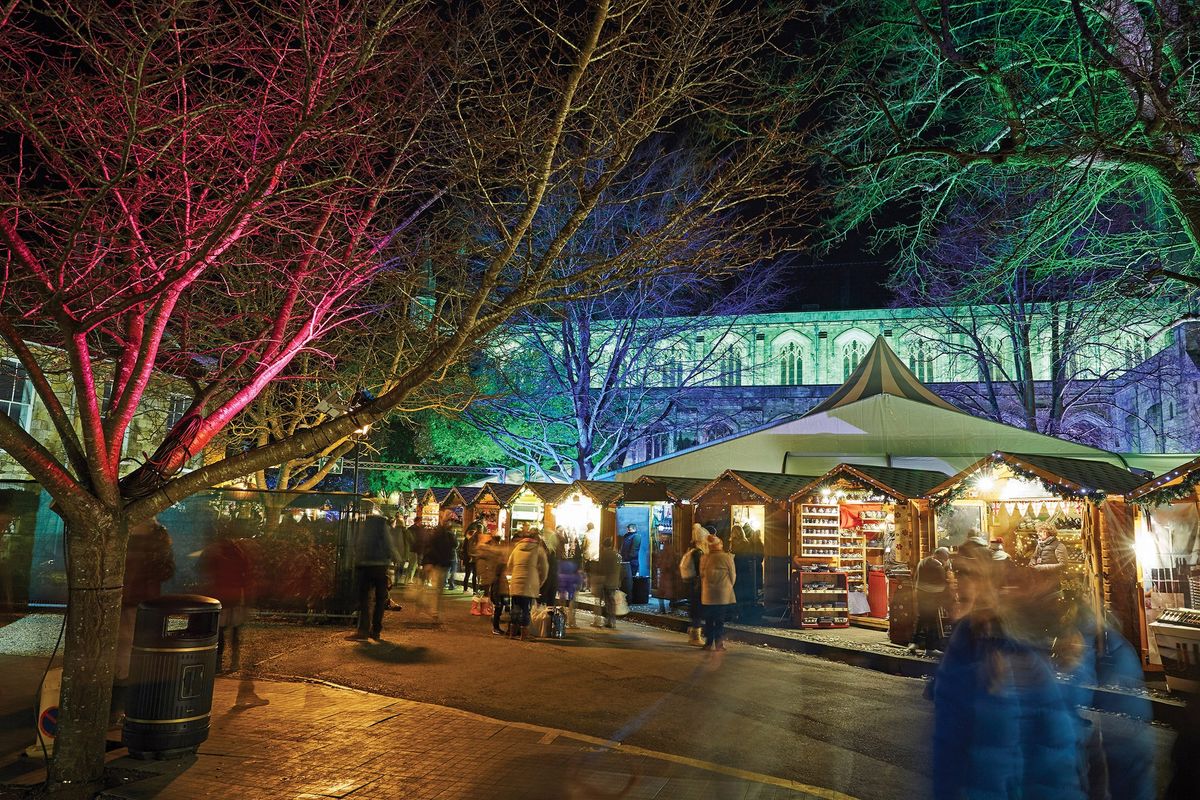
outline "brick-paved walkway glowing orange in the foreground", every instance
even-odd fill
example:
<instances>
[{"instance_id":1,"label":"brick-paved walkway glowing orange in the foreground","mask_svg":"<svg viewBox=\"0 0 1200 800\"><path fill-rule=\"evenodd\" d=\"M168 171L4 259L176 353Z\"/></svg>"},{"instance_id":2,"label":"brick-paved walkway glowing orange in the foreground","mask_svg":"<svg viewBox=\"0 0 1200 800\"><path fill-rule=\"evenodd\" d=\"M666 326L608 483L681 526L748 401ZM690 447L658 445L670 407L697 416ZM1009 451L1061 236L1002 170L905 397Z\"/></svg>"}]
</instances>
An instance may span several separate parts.
<instances>
[{"instance_id":1,"label":"brick-paved walkway glowing orange in the foreground","mask_svg":"<svg viewBox=\"0 0 1200 800\"><path fill-rule=\"evenodd\" d=\"M110 762L127 786L107 800L604 798L844 800L768 775L439 705L323 684L217 681L196 758Z\"/></svg>"}]
</instances>

